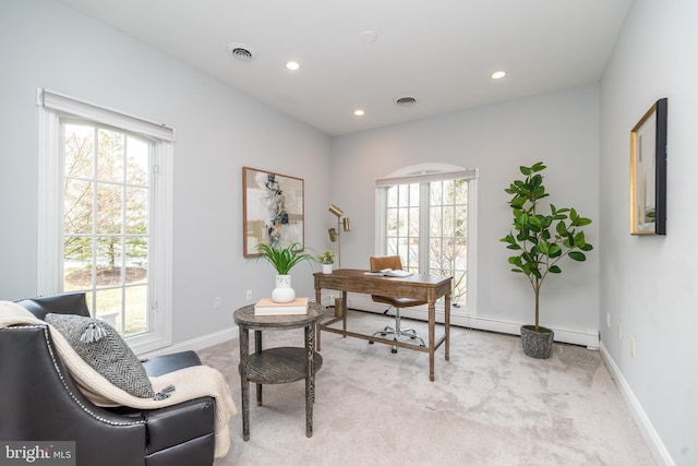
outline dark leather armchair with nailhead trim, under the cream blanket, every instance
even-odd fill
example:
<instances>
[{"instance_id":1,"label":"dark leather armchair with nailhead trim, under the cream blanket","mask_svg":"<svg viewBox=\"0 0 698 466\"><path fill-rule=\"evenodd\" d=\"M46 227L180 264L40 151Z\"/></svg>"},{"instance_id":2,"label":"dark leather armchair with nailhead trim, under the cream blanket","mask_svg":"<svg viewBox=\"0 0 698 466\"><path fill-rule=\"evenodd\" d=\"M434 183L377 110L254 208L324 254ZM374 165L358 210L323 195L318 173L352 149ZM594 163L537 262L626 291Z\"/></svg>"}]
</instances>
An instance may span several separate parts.
<instances>
[{"instance_id":1,"label":"dark leather armchair with nailhead trim, under the cream blanket","mask_svg":"<svg viewBox=\"0 0 698 466\"><path fill-rule=\"evenodd\" d=\"M88 316L84 294L17 301L47 313ZM144 362L151 377L201 365L194 351ZM75 386L48 325L0 328L0 439L75 441L79 466L203 466L214 463L215 401L142 410L103 408Z\"/></svg>"}]
</instances>

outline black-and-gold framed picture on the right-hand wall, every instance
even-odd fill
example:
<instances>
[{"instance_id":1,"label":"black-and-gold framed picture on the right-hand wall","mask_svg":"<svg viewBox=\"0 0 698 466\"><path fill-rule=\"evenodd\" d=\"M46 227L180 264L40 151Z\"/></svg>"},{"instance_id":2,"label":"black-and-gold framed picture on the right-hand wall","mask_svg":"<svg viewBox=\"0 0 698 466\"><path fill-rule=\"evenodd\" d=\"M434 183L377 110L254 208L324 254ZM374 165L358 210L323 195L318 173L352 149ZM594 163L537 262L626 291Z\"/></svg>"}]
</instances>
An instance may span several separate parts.
<instances>
[{"instance_id":1,"label":"black-and-gold framed picture on the right-hand wall","mask_svg":"<svg viewBox=\"0 0 698 466\"><path fill-rule=\"evenodd\" d=\"M666 98L630 131L630 235L666 235Z\"/></svg>"}]
</instances>

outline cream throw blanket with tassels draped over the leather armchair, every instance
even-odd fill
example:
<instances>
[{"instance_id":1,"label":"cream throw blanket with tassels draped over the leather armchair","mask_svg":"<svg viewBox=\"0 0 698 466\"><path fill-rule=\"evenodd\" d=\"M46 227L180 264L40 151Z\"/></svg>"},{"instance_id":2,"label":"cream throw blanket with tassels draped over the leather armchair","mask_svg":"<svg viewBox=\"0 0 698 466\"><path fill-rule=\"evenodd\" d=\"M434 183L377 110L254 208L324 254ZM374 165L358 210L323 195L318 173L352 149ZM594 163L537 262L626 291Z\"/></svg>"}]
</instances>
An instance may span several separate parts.
<instances>
[{"instance_id":1,"label":"cream throw blanket with tassels draped over the leather armchair","mask_svg":"<svg viewBox=\"0 0 698 466\"><path fill-rule=\"evenodd\" d=\"M20 304L11 301L0 301L0 328L21 324L48 325ZM139 409L157 409L201 396L213 396L216 399L215 457L226 456L230 447L228 425L237 410L230 395L230 387L219 371L208 366L195 366L151 378L153 390L156 393L167 385L174 385L176 390L166 399L139 398L112 385L87 365L56 328L50 325L49 328L58 354L80 391L97 406L129 406Z\"/></svg>"}]
</instances>

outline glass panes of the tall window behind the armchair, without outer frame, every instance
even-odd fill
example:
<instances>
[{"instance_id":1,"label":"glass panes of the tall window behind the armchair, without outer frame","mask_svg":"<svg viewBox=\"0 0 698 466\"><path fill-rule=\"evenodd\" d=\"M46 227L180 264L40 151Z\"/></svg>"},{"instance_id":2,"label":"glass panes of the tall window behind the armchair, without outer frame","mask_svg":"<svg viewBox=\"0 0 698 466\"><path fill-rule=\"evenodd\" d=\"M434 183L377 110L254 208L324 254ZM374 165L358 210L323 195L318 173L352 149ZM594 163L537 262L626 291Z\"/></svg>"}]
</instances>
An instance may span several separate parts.
<instances>
[{"instance_id":1,"label":"glass panes of the tall window behind the armchair, without outer frame","mask_svg":"<svg viewBox=\"0 0 698 466\"><path fill-rule=\"evenodd\" d=\"M148 319L148 205L154 143L88 122L62 120L63 290L87 292L119 333Z\"/></svg>"}]
</instances>

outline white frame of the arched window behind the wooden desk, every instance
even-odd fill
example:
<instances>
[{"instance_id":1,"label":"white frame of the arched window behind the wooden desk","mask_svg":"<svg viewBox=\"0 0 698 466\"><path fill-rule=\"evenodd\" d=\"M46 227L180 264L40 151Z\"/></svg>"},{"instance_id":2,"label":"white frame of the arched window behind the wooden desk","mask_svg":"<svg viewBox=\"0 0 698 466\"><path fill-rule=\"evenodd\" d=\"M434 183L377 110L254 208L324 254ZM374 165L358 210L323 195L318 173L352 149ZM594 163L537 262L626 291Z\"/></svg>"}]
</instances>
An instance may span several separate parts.
<instances>
[{"instance_id":1,"label":"white frame of the arched window behind the wooden desk","mask_svg":"<svg viewBox=\"0 0 698 466\"><path fill-rule=\"evenodd\" d=\"M376 254L386 254L386 190L385 187L428 181L441 181L448 179L468 180L468 273L466 276L467 289L466 302L455 303L457 308L452 313L477 314L478 303L478 177L477 168L462 168L448 164L420 164L394 171L384 178L375 180L375 251ZM421 202L420 202L421 203ZM429 231L426 225L420 225L420 231ZM420 256L420 264L425 258ZM426 308L424 308L426 309Z\"/></svg>"}]
</instances>

